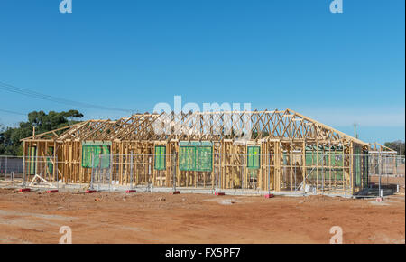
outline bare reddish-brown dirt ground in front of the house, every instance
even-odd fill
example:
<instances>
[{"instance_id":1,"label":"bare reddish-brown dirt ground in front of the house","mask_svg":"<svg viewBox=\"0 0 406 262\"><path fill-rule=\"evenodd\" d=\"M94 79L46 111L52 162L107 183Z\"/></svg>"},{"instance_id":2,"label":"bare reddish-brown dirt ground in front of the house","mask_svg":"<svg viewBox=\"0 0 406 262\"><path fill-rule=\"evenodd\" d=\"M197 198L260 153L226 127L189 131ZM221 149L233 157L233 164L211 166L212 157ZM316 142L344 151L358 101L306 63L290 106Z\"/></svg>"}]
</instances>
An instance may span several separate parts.
<instances>
[{"instance_id":1,"label":"bare reddish-brown dirt ground in front of the house","mask_svg":"<svg viewBox=\"0 0 406 262\"><path fill-rule=\"evenodd\" d=\"M404 195L374 200L325 196L214 196L0 189L0 243L405 243Z\"/></svg>"}]
</instances>

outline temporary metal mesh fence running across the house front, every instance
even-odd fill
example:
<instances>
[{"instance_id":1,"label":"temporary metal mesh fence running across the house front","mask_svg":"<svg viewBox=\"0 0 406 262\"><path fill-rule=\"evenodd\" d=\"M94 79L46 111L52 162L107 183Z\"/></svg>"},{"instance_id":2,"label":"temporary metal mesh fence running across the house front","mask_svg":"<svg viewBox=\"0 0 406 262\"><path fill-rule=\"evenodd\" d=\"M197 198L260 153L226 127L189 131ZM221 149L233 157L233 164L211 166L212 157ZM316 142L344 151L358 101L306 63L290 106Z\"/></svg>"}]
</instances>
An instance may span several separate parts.
<instances>
[{"instance_id":1,"label":"temporary metal mesh fence running across the house front","mask_svg":"<svg viewBox=\"0 0 406 262\"><path fill-rule=\"evenodd\" d=\"M372 191L404 190L405 158L386 154L97 154L91 163L53 156L7 159L7 173L24 173L24 184L59 187L86 183L90 189L157 188L346 194L354 186ZM5 158L0 158L2 164ZM360 164L357 170L355 163ZM353 163L351 167L350 163ZM3 166L3 165L2 165ZM361 167L362 166L362 167ZM350 168L352 170L350 170ZM13 170L13 171L12 171ZM280 175L275 175L279 172ZM349 173L356 173L355 176ZM356 178L356 179L355 179Z\"/></svg>"}]
</instances>

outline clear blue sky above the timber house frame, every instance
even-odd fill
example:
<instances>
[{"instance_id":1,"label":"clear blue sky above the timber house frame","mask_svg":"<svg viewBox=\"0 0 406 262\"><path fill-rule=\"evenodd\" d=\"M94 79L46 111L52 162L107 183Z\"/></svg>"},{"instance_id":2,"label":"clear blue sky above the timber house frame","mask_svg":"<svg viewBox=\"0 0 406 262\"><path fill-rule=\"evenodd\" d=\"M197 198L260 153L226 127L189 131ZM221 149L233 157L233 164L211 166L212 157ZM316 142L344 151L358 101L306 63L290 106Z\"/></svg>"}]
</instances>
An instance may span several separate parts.
<instances>
[{"instance_id":1,"label":"clear blue sky above the timber house frame","mask_svg":"<svg viewBox=\"0 0 406 262\"><path fill-rule=\"evenodd\" d=\"M405 1L0 2L0 81L152 111L158 102L291 108L367 142L405 137ZM0 89L0 109L68 110ZM125 112L78 108L86 118ZM0 124L24 116L0 112Z\"/></svg>"}]
</instances>

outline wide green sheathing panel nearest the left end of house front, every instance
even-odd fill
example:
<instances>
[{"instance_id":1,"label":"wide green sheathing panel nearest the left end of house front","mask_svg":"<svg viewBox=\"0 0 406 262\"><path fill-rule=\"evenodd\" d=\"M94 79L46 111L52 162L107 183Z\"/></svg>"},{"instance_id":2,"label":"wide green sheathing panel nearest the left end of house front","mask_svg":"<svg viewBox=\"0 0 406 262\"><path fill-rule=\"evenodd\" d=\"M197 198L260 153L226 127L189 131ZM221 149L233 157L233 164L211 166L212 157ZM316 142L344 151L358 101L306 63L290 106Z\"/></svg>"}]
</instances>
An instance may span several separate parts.
<instances>
[{"instance_id":1,"label":"wide green sheathing panel nearest the left end of house front","mask_svg":"<svg viewBox=\"0 0 406 262\"><path fill-rule=\"evenodd\" d=\"M92 156L93 159L92 166ZM109 145L82 145L82 167L110 167L110 146Z\"/></svg>"}]
</instances>

